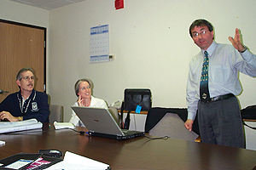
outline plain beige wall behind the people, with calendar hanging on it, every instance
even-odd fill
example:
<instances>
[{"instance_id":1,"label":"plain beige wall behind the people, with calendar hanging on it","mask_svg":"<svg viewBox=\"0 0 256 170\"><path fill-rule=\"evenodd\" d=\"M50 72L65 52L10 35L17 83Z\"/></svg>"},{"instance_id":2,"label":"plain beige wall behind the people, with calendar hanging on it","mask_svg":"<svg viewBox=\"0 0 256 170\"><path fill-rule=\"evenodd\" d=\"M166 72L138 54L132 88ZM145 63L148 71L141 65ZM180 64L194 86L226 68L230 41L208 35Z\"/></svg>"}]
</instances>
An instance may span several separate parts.
<instances>
[{"instance_id":1,"label":"plain beige wall behind the people, with calendar hanging on it","mask_svg":"<svg viewBox=\"0 0 256 170\"><path fill-rule=\"evenodd\" d=\"M189 61L200 51L188 31L195 19L212 22L216 42L230 43L228 37L240 28L244 43L256 54L254 0L125 0L125 8L119 10L113 7L113 0L86 0L50 10L49 15L44 9L38 14L38 8L16 3L21 11L3 12L2 5L11 8L10 3L0 2L0 18L48 28L47 92L52 104L64 105L65 121L77 99L73 85L83 77L94 82L94 95L108 104L123 99L125 88L150 88L153 106L187 107ZM26 14L24 8L32 12ZM45 23L42 17L47 19ZM115 59L90 64L90 27L106 24L110 54ZM254 105L255 78L240 78L241 107Z\"/></svg>"}]
</instances>

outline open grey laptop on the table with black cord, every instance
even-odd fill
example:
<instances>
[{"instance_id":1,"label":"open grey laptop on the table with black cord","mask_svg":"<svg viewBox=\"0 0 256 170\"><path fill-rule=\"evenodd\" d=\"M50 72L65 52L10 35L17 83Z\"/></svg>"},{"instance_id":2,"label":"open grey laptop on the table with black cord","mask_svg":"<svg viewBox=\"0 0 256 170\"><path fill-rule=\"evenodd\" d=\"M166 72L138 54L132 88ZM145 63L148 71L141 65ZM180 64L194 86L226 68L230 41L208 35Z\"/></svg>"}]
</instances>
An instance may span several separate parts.
<instances>
[{"instance_id":1,"label":"open grey laptop on the table with black cord","mask_svg":"<svg viewBox=\"0 0 256 170\"><path fill-rule=\"evenodd\" d=\"M144 132L121 129L108 108L72 106L91 136L111 139L132 139Z\"/></svg>"}]
</instances>

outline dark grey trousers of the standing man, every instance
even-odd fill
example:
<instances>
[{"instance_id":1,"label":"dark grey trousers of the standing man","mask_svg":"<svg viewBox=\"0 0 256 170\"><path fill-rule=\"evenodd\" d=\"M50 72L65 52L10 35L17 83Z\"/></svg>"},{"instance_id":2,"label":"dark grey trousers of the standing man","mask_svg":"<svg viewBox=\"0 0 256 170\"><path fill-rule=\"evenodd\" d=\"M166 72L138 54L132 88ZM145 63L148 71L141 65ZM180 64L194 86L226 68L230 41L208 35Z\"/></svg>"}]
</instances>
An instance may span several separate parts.
<instances>
[{"instance_id":1,"label":"dark grey trousers of the standing man","mask_svg":"<svg viewBox=\"0 0 256 170\"><path fill-rule=\"evenodd\" d=\"M201 142L244 148L241 112L236 97L198 102Z\"/></svg>"}]
</instances>

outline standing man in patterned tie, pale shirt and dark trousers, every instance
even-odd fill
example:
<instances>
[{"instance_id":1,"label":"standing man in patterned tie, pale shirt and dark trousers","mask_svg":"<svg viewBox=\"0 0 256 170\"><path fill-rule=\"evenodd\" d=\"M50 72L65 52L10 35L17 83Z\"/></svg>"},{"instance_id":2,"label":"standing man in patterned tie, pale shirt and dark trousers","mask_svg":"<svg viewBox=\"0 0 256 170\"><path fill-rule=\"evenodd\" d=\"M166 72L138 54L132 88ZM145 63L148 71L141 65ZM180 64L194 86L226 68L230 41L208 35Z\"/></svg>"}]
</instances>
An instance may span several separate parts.
<instances>
[{"instance_id":1,"label":"standing man in patterned tie, pale shirt and dark trousers","mask_svg":"<svg viewBox=\"0 0 256 170\"><path fill-rule=\"evenodd\" d=\"M189 63L187 84L188 120L184 126L192 130L198 114L201 142L244 148L238 71L256 77L255 57L242 57L231 45L214 42L212 24L195 20L189 34L201 48Z\"/></svg>"}]
</instances>

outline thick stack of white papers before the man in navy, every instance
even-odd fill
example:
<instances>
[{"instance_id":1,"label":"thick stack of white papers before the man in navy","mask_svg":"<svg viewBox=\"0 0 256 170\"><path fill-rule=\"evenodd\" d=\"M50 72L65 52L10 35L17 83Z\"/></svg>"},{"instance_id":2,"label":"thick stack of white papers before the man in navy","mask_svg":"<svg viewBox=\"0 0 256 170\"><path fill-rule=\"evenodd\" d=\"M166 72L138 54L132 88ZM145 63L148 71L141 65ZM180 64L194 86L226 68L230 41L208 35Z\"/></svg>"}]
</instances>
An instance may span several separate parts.
<instances>
[{"instance_id":1,"label":"thick stack of white papers before the man in navy","mask_svg":"<svg viewBox=\"0 0 256 170\"><path fill-rule=\"evenodd\" d=\"M0 122L0 133L11 133L16 131L30 130L42 127L42 122L38 122L37 119L29 119L20 122Z\"/></svg>"}]
</instances>

